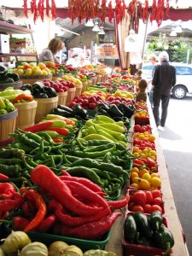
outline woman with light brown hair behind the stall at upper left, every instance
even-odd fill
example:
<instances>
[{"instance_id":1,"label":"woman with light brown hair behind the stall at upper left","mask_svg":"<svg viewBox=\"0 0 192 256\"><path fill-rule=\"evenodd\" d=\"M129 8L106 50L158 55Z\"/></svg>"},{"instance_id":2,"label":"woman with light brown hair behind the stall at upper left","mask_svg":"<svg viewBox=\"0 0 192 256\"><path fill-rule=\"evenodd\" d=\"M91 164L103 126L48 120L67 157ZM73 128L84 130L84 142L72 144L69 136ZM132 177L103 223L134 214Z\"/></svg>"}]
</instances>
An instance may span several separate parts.
<instances>
[{"instance_id":1,"label":"woman with light brown hair behind the stall at upper left","mask_svg":"<svg viewBox=\"0 0 192 256\"><path fill-rule=\"evenodd\" d=\"M39 55L39 61L51 61L53 63L60 63L60 61L55 57L55 55L63 49L64 44L60 38L53 38L50 40L48 47L43 49L42 53Z\"/></svg>"}]
</instances>

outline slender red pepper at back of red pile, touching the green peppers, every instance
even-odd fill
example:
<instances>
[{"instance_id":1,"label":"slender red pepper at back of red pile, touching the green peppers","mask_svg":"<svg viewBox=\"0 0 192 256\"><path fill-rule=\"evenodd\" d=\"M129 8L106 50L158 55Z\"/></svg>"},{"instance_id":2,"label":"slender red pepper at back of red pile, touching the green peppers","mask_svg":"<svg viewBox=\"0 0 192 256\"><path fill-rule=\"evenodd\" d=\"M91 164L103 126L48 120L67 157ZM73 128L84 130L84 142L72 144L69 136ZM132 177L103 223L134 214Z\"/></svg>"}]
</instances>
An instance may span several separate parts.
<instances>
[{"instance_id":1,"label":"slender red pepper at back of red pile, touching the green peppers","mask_svg":"<svg viewBox=\"0 0 192 256\"><path fill-rule=\"evenodd\" d=\"M75 181L83 184L87 188L91 189L94 192L102 192L102 188L96 183L91 182L88 178L85 177L73 177L73 176L60 176L61 180Z\"/></svg>"}]
</instances>

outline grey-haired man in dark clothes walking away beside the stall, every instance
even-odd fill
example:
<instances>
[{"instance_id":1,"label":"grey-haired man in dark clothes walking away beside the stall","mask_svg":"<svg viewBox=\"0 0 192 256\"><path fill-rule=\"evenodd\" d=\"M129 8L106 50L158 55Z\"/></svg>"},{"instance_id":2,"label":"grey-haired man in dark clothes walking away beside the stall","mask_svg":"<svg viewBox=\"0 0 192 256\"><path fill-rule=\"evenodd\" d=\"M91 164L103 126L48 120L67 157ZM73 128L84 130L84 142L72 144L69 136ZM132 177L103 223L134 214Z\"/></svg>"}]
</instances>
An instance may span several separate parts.
<instances>
[{"instance_id":1,"label":"grey-haired man in dark clothes walking away beside the stall","mask_svg":"<svg viewBox=\"0 0 192 256\"><path fill-rule=\"evenodd\" d=\"M169 55L162 51L159 55L160 65L154 68L152 85L154 86L154 119L159 130L164 130L166 124L167 108L171 96L172 86L176 84L176 69L169 63ZM160 116L161 102L161 116Z\"/></svg>"}]
</instances>

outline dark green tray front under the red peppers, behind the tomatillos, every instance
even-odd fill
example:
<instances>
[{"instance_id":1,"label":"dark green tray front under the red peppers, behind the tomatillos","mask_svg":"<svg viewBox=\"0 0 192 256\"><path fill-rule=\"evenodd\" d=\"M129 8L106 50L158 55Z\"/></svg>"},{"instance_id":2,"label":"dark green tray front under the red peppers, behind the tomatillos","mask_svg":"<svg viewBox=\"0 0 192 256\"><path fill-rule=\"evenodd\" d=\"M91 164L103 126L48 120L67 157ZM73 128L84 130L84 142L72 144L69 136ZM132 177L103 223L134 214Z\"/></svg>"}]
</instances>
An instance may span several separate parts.
<instances>
[{"instance_id":1,"label":"dark green tray front under the red peppers, behind the tomatillos","mask_svg":"<svg viewBox=\"0 0 192 256\"><path fill-rule=\"evenodd\" d=\"M28 232L27 235L32 241L40 241L45 245L49 246L54 241L65 241L68 245L75 245L79 247L83 252L90 249L104 249L105 245L108 243L110 231L102 236L98 240L84 240L67 236L55 236L50 234L43 234L38 232Z\"/></svg>"}]
</instances>

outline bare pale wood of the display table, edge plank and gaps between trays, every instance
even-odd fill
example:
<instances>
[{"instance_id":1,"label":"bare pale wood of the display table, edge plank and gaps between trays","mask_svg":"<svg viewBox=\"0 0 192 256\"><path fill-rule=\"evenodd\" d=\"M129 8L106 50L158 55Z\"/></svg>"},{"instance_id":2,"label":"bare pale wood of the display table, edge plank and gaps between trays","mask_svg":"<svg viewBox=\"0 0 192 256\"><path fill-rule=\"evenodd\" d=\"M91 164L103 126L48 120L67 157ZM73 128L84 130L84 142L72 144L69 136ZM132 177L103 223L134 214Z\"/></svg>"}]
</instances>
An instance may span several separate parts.
<instances>
[{"instance_id":1,"label":"bare pale wood of the display table, edge plank and gaps between trays","mask_svg":"<svg viewBox=\"0 0 192 256\"><path fill-rule=\"evenodd\" d=\"M148 106L150 104L148 103ZM152 109L148 107L148 112L150 116L150 125L152 127L152 132L155 136L155 147L157 151L157 162L158 162L158 170L160 172L161 179L161 192L163 194L163 201L165 202L165 212L166 218L169 225L169 229L172 231L172 235L174 237L175 244L172 247L172 256L189 256L188 249L183 237L183 230L177 215L177 209L175 206L174 198L172 195L171 184L169 181L168 172L166 169L166 160L163 155L162 148L160 147L160 139L159 132L157 131L157 127L154 122L154 116L152 113ZM132 137L133 127L135 125L134 120L131 121L131 133L130 138ZM121 191L120 199L125 198L126 187L124 187ZM123 210L124 213L124 210ZM108 252L116 253L117 256L123 256L124 250L122 247L122 236L123 236L123 226L124 226L124 214L117 218L115 223L113 224L111 235L108 241L108 244L105 247L105 250Z\"/></svg>"}]
</instances>

